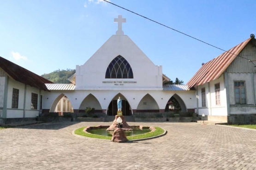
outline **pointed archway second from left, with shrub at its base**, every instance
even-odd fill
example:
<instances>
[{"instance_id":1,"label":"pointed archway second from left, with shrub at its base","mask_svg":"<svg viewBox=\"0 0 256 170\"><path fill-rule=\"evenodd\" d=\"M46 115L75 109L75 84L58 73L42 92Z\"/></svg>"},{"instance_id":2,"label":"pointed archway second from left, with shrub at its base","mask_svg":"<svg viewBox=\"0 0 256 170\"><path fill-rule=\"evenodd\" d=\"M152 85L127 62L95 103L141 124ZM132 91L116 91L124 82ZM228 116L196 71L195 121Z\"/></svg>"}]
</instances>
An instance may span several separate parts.
<instances>
[{"instance_id":1,"label":"pointed archway second from left, with shrub at its base","mask_svg":"<svg viewBox=\"0 0 256 170\"><path fill-rule=\"evenodd\" d=\"M78 112L84 112L85 108L87 107L95 108L95 113L102 113L100 102L91 93L83 99L83 102L80 104Z\"/></svg>"}]
</instances>

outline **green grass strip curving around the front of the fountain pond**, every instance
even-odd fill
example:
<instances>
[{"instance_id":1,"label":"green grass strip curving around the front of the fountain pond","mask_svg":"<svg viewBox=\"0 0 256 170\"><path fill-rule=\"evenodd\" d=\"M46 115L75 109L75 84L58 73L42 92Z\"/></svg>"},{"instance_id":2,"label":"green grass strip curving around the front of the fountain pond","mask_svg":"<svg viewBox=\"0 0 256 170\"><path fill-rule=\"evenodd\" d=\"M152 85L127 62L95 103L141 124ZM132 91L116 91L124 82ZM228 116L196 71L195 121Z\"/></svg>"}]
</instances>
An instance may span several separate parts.
<instances>
[{"instance_id":1,"label":"green grass strip curving around the front of the fountain pond","mask_svg":"<svg viewBox=\"0 0 256 170\"><path fill-rule=\"evenodd\" d=\"M86 136L86 137L92 137L92 138L98 138L98 139L107 139L107 140L111 140L112 136L101 136L101 135L95 135L95 134L89 134L89 133L85 133L83 131L83 129L86 128L86 126L83 126L77 130L75 130L75 134L76 135L81 135L81 136ZM133 139L142 139L142 138L146 138L146 137L152 137L152 136L157 136L157 135L161 135L164 132L164 130L160 127L155 127L155 131L154 132L148 132L145 134L141 134L141 135L135 135L135 136L127 136L128 140L133 140Z\"/></svg>"}]
</instances>

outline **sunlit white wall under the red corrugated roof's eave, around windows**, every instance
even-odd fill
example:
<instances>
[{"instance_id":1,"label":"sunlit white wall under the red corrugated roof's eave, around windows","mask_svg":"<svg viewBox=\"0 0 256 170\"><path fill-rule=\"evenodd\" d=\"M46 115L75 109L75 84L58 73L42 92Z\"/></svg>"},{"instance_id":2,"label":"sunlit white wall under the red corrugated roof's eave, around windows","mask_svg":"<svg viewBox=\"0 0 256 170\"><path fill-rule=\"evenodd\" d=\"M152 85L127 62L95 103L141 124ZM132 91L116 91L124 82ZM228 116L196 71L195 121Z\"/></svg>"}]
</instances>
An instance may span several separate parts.
<instances>
[{"instance_id":1,"label":"sunlit white wall under the red corrugated roof's eave, around windows","mask_svg":"<svg viewBox=\"0 0 256 170\"><path fill-rule=\"evenodd\" d=\"M220 83L220 105L216 105L215 99L215 84ZM210 88L209 88L210 85ZM198 113L199 115L205 114L210 116L226 116L226 89L224 87L223 74L219 79L215 79L203 85L198 85ZM206 107L202 107L202 88L205 88ZM196 102L196 101L195 101ZM195 104L196 108L196 104Z\"/></svg>"}]
</instances>

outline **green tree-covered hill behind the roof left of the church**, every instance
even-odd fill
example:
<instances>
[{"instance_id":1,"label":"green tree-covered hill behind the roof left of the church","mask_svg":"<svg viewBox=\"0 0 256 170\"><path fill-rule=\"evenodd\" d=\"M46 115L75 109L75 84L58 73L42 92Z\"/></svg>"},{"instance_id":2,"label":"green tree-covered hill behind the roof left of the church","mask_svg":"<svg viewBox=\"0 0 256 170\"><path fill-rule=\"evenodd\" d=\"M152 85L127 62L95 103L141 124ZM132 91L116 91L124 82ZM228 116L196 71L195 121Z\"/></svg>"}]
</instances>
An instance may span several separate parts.
<instances>
[{"instance_id":1,"label":"green tree-covered hill behind the roof left of the church","mask_svg":"<svg viewBox=\"0 0 256 170\"><path fill-rule=\"evenodd\" d=\"M60 84L69 84L71 83L68 78L71 77L71 75L75 74L75 69L66 69L66 70L55 70L52 73L43 74L42 77L45 79L48 79L54 83L60 83Z\"/></svg>"}]
</instances>

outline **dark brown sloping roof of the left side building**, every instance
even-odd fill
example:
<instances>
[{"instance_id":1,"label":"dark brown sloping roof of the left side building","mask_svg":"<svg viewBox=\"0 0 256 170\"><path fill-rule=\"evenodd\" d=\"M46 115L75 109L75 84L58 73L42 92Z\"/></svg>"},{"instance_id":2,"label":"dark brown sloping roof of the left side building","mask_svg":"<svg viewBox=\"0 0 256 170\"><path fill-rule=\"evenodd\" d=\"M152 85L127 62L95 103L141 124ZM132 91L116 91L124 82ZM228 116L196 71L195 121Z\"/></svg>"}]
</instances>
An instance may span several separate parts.
<instances>
[{"instance_id":1,"label":"dark brown sloping roof of the left side building","mask_svg":"<svg viewBox=\"0 0 256 170\"><path fill-rule=\"evenodd\" d=\"M0 57L0 68L2 68L9 76L11 76L12 79L32 87L42 89L44 91L48 91L45 83L53 84L53 82L49 81L48 79L45 79L23 67L20 67L3 57Z\"/></svg>"}]
</instances>

